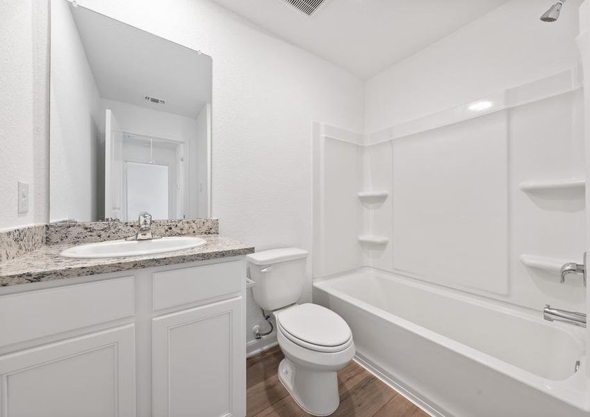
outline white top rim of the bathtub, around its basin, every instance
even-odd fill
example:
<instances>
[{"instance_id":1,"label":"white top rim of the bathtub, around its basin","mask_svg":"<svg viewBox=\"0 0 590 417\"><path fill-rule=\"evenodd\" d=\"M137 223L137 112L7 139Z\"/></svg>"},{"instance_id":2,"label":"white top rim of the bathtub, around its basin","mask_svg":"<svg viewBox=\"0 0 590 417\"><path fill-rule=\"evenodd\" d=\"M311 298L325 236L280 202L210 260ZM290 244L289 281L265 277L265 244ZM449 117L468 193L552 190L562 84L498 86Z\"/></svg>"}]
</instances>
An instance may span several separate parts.
<instances>
[{"instance_id":1,"label":"white top rim of the bathtub, around its basin","mask_svg":"<svg viewBox=\"0 0 590 417\"><path fill-rule=\"evenodd\" d=\"M384 311L377 306L372 306L368 302L364 302L358 298L353 297L352 295L348 295L347 293L343 293L343 291L337 290L332 285L335 281L352 277L354 275L376 275L379 278L392 280L398 284L413 286L414 288L420 288L431 293L436 293L445 297L451 297L454 300L468 302L468 304L478 307L493 309L502 313L507 313L511 316L518 316L518 318L536 322L537 324L545 326L548 325L551 327L555 326L555 329L557 329L559 332L568 334L575 340L577 345L579 345L581 355L580 369L565 379L555 380L541 377L528 370L524 370L523 368L518 368L518 366L515 366L511 363L502 361L502 359L493 357L491 354L477 350L473 347L465 345L464 343L454 341L448 336L444 336L443 334L439 334L433 330L427 329L426 327L417 325L400 316L396 316L393 313ZM368 313L371 313L382 320L385 320L386 322L392 322L394 325L398 325L399 327L402 327L409 332L413 332L414 334L417 334L418 336L425 338L432 343L436 343L436 345L444 347L448 350L452 350L453 352L457 352L458 354L461 354L482 366L491 368L492 370L495 370L495 372L515 379L516 381L541 391L546 395L550 395L552 398L566 402L567 404L582 411L590 411L590 386L589 379L585 376L587 366L585 357L585 334L582 329L570 329L568 327L564 327L566 325L562 323L552 323L552 325L550 325L545 323L540 316L534 316L531 309L526 309L522 306L516 306L515 304L509 304L507 302L501 302L498 300L485 299L485 297L482 296L471 296L463 293L457 293L457 290L447 289L445 287L439 288L433 284L416 281L418 280L397 275L392 272L378 270L377 268L363 267L357 270L343 272L338 275L315 278L313 279L313 290L317 289L318 291L323 291L329 295L338 297L347 303L357 306L358 308L363 309L364 311L367 311Z\"/></svg>"}]
</instances>

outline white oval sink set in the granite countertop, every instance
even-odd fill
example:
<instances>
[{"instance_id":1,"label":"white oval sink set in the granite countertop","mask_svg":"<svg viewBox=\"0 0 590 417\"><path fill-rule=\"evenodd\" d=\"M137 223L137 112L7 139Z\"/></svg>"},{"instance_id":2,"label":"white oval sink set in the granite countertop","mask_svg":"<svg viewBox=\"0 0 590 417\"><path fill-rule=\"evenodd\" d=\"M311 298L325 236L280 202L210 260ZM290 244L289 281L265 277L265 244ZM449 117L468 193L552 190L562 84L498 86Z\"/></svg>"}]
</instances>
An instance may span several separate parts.
<instances>
[{"instance_id":1,"label":"white oval sink set in the granite countertop","mask_svg":"<svg viewBox=\"0 0 590 417\"><path fill-rule=\"evenodd\" d=\"M120 258L175 252L204 245L202 238L178 236L152 240L110 240L69 247L60 252L65 258Z\"/></svg>"}]
</instances>

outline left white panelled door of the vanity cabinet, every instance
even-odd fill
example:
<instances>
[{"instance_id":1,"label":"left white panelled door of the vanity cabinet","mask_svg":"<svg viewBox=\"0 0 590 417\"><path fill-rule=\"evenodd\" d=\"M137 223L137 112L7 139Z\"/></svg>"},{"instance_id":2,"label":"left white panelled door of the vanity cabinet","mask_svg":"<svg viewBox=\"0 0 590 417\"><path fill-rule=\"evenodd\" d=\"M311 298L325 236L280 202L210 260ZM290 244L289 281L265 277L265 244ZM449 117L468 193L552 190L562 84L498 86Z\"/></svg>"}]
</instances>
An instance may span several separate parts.
<instances>
[{"instance_id":1,"label":"left white panelled door of the vanity cabinet","mask_svg":"<svg viewBox=\"0 0 590 417\"><path fill-rule=\"evenodd\" d=\"M0 416L135 416L135 327L0 357Z\"/></svg>"}]
</instances>

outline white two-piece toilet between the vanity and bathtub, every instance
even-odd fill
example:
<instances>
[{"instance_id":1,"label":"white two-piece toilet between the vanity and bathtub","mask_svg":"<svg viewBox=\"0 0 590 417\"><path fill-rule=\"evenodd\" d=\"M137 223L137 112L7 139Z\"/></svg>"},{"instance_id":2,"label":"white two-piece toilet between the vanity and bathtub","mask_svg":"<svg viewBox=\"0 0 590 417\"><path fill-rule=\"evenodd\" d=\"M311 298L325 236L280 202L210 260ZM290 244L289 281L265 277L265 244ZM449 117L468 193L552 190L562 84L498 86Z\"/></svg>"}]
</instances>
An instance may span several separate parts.
<instances>
[{"instance_id":1,"label":"white two-piece toilet between the vanity and bathtub","mask_svg":"<svg viewBox=\"0 0 590 417\"><path fill-rule=\"evenodd\" d=\"M317 304L297 304L308 252L297 247L247 255L254 301L272 313L285 355L279 380L293 400L314 416L340 404L336 373L354 357L352 332L341 316Z\"/></svg>"}]
</instances>

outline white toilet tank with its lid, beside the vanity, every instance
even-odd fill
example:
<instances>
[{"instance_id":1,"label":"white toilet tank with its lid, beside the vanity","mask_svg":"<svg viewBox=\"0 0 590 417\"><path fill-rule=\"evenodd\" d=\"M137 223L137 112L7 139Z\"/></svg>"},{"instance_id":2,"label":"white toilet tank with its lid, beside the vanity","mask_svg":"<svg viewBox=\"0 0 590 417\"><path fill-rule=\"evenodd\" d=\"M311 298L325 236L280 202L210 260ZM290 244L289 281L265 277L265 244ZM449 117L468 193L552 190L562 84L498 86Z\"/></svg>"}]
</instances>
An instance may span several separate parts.
<instances>
[{"instance_id":1,"label":"white toilet tank with its lid, beside the vanity","mask_svg":"<svg viewBox=\"0 0 590 417\"><path fill-rule=\"evenodd\" d=\"M308 252L297 247L264 250L246 256L254 301L267 311L297 302L303 291Z\"/></svg>"}]
</instances>

